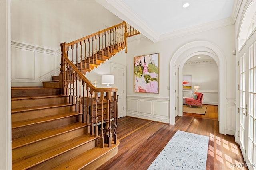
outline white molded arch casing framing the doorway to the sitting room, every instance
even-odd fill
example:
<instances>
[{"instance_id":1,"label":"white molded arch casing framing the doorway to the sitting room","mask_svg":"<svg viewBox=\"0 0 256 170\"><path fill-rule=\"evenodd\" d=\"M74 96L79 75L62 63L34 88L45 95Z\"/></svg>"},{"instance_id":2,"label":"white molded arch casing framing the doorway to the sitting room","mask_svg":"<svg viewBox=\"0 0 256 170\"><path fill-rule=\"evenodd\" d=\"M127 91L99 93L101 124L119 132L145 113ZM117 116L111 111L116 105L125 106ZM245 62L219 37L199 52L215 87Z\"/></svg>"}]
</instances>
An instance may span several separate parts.
<instances>
[{"instance_id":1,"label":"white molded arch casing framing the doorway to the sitting room","mask_svg":"<svg viewBox=\"0 0 256 170\"><path fill-rule=\"evenodd\" d=\"M178 49L170 61L170 115L169 123L175 123L175 107L182 107L182 68L185 62L192 56L205 54L212 57L218 65L218 118L220 121L220 133L226 134L226 59L219 47L208 41L194 41L187 43ZM176 96L178 95L179 100ZM182 110L182 108L181 108ZM220 114L221 113L221 114Z\"/></svg>"}]
</instances>

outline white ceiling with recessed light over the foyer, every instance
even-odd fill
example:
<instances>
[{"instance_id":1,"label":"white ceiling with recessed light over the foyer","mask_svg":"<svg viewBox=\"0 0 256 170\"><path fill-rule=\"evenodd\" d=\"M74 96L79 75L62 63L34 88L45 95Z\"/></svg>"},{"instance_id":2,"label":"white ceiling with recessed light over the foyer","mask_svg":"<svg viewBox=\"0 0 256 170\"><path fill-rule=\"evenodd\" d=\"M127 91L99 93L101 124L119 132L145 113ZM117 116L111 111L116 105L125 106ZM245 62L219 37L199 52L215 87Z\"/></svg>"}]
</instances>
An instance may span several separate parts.
<instances>
[{"instance_id":1,"label":"white ceiling with recessed light over the foyer","mask_svg":"<svg viewBox=\"0 0 256 170\"><path fill-rule=\"evenodd\" d=\"M153 42L234 24L234 0L99 0ZM188 2L190 5L183 8ZM181 33L183 32L183 33Z\"/></svg>"}]
</instances>

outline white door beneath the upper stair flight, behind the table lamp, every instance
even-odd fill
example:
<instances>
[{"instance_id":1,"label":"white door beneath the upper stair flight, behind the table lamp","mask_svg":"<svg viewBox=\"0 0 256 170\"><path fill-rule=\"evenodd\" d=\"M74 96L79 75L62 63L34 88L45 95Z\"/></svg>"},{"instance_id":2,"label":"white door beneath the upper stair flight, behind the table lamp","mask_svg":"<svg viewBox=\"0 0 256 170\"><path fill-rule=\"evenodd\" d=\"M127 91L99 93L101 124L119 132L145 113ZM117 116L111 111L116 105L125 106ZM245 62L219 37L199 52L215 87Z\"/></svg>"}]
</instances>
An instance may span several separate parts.
<instances>
[{"instance_id":1,"label":"white door beneath the upper stair flight, behind the table lamp","mask_svg":"<svg viewBox=\"0 0 256 170\"><path fill-rule=\"evenodd\" d=\"M118 118L124 117L124 103L126 97L124 96L125 94L125 89L124 89L124 74L125 74L125 67L112 64L111 66L111 74L114 75L114 84L111 85L112 87L118 88L117 90L117 95L118 95Z\"/></svg>"}]
</instances>

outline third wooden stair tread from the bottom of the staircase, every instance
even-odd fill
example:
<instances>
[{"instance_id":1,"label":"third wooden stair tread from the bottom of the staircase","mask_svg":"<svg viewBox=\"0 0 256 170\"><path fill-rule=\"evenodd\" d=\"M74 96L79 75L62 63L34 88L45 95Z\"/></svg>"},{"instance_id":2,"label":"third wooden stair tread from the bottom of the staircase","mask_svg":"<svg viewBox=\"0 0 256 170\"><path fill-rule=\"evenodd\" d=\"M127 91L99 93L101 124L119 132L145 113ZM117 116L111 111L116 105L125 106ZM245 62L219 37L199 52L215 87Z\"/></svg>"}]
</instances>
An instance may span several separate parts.
<instances>
[{"instance_id":1,"label":"third wooden stair tread from the bottom of the staircase","mask_svg":"<svg viewBox=\"0 0 256 170\"><path fill-rule=\"evenodd\" d=\"M31 143L35 143L35 142L41 141L43 139L48 139L50 137L60 135L60 134L63 134L63 133L67 133L69 131L79 129L79 128L82 128L82 127L85 127L85 126L87 126L85 123L77 122L77 123L72 123L70 125L58 127L58 128L55 128L55 129L50 129L50 130L47 130L47 131L39 132L39 133L36 133L34 135L28 135L28 136L25 136L25 137L14 139L12 141L12 149L22 147L22 146L25 146L25 145L28 145L28 144L31 144Z\"/></svg>"}]
</instances>

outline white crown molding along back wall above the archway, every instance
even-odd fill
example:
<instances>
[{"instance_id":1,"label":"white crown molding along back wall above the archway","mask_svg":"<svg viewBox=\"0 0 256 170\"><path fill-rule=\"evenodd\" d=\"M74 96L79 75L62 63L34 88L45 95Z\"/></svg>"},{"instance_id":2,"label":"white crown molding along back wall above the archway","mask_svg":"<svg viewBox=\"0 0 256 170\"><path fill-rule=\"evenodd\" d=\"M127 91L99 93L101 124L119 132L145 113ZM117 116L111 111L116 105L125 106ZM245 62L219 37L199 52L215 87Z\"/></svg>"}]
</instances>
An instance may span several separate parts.
<instances>
[{"instance_id":1,"label":"white crown molding along back wall above the archway","mask_svg":"<svg viewBox=\"0 0 256 170\"><path fill-rule=\"evenodd\" d=\"M224 18L222 20L212 21L209 23L204 23L204 24L197 25L194 27L182 29L179 31L162 34L162 35L160 35L159 41L173 39L176 37L182 37L184 35L190 35L190 34L194 34L194 33L200 33L203 31L216 29L216 28L220 28L220 27L225 27L225 26L233 25L233 24L234 24L234 20L232 20L232 18L228 17L228 18Z\"/></svg>"}]
</instances>

